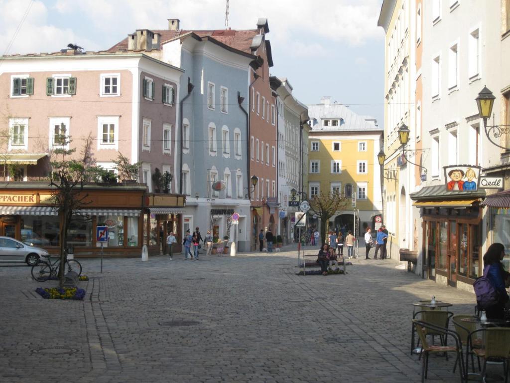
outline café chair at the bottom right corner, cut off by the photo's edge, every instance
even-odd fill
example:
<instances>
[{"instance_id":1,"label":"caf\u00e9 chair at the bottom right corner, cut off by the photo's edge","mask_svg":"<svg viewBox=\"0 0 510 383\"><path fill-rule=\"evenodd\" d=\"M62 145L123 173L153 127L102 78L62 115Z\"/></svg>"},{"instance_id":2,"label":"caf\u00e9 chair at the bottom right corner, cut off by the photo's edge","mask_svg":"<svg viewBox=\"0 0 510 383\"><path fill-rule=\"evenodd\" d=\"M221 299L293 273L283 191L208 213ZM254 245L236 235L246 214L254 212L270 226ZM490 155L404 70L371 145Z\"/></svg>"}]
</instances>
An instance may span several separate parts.
<instances>
[{"instance_id":1,"label":"caf\u00e9 chair at the bottom right corner, cut off by the photo's edge","mask_svg":"<svg viewBox=\"0 0 510 383\"><path fill-rule=\"evenodd\" d=\"M468 345L473 345L473 339L482 334L483 344L481 348L473 348L476 356L483 358L481 370L482 380L485 380L488 361L503 362L503 374L505 383L508 382L508 360L510 360L510 328L490 327L480 328L469 334Z\"/></svg>"}]
</instances>

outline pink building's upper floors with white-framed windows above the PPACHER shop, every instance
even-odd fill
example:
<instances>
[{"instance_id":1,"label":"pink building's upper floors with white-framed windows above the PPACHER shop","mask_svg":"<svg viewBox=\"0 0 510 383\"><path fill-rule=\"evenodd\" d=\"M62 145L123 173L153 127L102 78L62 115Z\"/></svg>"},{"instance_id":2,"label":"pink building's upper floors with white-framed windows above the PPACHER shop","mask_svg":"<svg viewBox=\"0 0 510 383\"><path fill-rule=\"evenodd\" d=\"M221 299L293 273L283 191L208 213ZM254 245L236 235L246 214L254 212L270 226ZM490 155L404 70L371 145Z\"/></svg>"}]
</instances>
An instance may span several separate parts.
<instances>
[{"instance_id":1,"label":"pink building's upper floors with white-framed windows above the PPACHER shop","mask_svg":"<svg viewBox=\"0 0 510 383\"><path fill-rule=\"evenodd\" d=\"M143 51L67 49L4 57L0 163L15 165L9 166L7 180L39 180L50 170L52 149L62 147L62 134L72 139L67 146L77 149L75 157L90 135L97 165L114 170L119 152L132 163L140 161L139 180L154 192L156 167L174 174L179 158L175 128L182 73Z\"/></svg>"}]
</instances>

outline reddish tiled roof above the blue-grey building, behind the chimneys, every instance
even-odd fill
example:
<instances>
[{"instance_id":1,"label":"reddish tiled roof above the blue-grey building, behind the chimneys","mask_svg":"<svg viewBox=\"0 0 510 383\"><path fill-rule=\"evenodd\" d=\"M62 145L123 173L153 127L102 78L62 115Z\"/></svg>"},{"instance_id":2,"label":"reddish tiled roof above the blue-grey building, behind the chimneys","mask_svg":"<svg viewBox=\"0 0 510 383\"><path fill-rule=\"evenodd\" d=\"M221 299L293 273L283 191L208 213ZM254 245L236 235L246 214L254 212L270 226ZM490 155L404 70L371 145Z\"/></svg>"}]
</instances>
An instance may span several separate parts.
<instances>
[{"instance_id":1,"label":"reddish tiled roof above the blue-grey building, behind the chimneys","mask_svg":"<svg viewBox=\"0 0 510 383\"><path fill-rule=\"evenodd\" d=\"M257 35L257 30L234 30L234 29L226 29L226 30L205 30L205 31L173 31L173 30L150 30L154 33L159 33L161 35L161 42L165 42L167 40L171 40L178 36L183 36L186 33L194 32L200 37L212 37L219 42L228 45L234 49L239 51L251 54L250 45L253 40L253 37ZM108 52L116 52L116 51L126 51L127 50L127 37L122 41L116 43L112 46Z\"/></svg>"}]
</instances>

